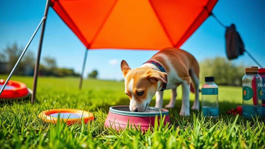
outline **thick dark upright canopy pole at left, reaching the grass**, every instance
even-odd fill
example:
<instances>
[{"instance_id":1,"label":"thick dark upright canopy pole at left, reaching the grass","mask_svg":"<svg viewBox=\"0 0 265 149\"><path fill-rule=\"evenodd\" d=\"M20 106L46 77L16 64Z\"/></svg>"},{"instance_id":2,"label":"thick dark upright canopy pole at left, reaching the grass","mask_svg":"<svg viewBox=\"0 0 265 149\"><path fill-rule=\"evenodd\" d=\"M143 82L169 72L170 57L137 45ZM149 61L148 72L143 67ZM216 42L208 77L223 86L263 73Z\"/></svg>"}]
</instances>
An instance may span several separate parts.
<instances>
[{"instance_id":1,"label":"thick dark upright canopy pole at left, reaching the grass","mask_svg":"<svg viewBox=\"0 0 265 149\"><path fill-rule=\"evenodd\" d=\"M44 14L43 14L43 16L45 16L45 18L47 18L50 4L51 4L51 1L47 0L46 5L45 5ZM38 71L39 71L39 60L41 58L41 48L42 48L45 25L46 25L46 19L43 21L43 25L42 25L42 29L41 29L41 35L40 35L40 39L39 39L39 48L38 48L38 54L37 54L37 58L36 58L34 77L33 77L33 89L32 89L32 95L31 95L31 100L30 100L31 103L33 103L33 101L36 97L36 87L37 87Z\"/></svg>"}]
</instances>

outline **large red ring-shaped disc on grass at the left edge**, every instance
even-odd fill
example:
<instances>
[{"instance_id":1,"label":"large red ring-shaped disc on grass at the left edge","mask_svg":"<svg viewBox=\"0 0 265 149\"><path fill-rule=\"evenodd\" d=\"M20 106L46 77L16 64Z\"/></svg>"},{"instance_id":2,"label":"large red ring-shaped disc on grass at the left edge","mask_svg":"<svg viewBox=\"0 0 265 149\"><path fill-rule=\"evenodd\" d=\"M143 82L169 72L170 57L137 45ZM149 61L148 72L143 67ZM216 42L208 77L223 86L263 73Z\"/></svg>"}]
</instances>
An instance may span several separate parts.
<instances>
[{"instance_id":1,"label":"large red ring-shaped disc on grass at the left edge","mask_svg":"<svg viewBox=\"0 0 265 149\"><path fill-rule=\"evenodd\" d=\"M3 87L6 80L0 79L0 88ZM5 89L0 95L0 101L4 100L19 100L29 97L32 90L27 88L27 85L15 80L9 80Z\"/></svg>"}]
</instances>

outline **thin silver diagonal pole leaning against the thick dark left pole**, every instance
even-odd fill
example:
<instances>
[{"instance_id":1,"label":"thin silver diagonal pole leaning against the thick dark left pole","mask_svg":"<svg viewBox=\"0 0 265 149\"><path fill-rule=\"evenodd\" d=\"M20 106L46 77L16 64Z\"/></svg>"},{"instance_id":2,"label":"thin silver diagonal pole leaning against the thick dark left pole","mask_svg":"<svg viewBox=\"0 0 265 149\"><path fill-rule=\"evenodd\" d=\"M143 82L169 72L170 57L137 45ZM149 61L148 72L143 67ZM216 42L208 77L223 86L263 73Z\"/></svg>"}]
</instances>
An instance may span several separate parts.
<instances>
[{"instance_id":1,"label":"thin silver diagonal pole leaning against the thick dark left pole","mask_svg":"<svg viewBox=\"0 0 265 149\"><path fill-rule=\"evenodd\" d=\"M43 16L42 19L41 19L41 21L39 22L39 25L37 26L37 28L35 29L34 33L33 33L32 36L31 36L31 38L29 39L29 42L28 42L27 46L24 48L23 52L21 53L19 59L17 60L17 62L16 62L16 64L15 64L15 66L13 67L13 69L12 69L12 71L10 72L9 76L7 77L6 82L4 83L3 87L1 88L1 90L0 90L0 95L1 95L1 93L4 91L4 88L6 87L7 82L8 82L9 79L11 78L11 76L12 76L13 72L15 71L17 65L18 65L19 62L21 61L21 59L22 59L23 55L25 54L25 52L27 51L27 49L28 49L28 47L29 47L29 44L31 43L32 39L35 37L37 31L39 30L39 27L41 26L42 22L45 21L45 19L46 19L46 17Z\"/></svg>"}]
</instances>

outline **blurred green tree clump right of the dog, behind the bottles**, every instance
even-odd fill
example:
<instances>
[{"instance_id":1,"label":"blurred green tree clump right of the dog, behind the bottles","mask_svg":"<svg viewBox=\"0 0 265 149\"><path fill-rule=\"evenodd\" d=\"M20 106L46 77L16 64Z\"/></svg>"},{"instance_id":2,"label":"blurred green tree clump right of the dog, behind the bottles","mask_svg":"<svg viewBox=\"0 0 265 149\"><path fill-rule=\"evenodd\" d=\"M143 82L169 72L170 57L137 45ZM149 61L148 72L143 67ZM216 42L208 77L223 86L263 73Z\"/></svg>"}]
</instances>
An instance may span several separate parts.
<instances>
[{"instance_id":1,"label":"blurred green tree clump right of the dog, behind the bottles","mask_svg":"<svg viewBox=\"0 0 265 149\"><path fill-rule=\"evenodd\" d=\"M214 76L215 83L220 85L242 84L245 74L244 65L235 65L223 57L208 58L200 63L200 82L204 82L205 76Z\"/></svg>"}]
</instances>

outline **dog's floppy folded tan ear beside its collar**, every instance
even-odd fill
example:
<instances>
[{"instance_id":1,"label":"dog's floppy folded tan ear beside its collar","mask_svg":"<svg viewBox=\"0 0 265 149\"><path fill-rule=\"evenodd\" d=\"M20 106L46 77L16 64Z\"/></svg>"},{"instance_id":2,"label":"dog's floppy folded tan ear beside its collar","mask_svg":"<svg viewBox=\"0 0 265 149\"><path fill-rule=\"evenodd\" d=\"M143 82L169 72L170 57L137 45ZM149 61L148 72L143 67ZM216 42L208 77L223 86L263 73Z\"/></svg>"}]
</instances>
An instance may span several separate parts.
<instances>
[{"instance_id":1,"label":"dog's floppy folded tan ear beside its collar","mask_svg":"<svg viewBox=\"0 0 265 149\"><path fill-rule=\"evenodd\" d=\"M156 83L157 81L167 83L167 73L153 70L151 73L148 74L147 79L149 79L152 83Z\"/></svg>"}]
</instances>

